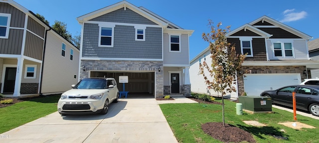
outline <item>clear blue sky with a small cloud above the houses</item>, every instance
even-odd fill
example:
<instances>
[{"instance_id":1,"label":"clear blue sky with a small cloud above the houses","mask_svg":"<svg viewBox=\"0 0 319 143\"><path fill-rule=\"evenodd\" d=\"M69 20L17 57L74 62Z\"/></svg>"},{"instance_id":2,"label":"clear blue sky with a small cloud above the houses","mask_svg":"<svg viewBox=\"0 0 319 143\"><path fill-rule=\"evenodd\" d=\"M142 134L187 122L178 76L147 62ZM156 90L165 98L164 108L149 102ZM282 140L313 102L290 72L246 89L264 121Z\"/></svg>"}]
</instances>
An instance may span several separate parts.
<instances>
[{"instance_id":1,"label":"clear blue sky with a small cloud above the houses","mask_svg":"<svg viewBox=\"0 0 319 143\"><path fill-rule=\"evenodd\" d=\"M76 18L122 0L14 0L54 24L67 24L72 35L81 32ZM209 32L208 19L222 28L236 29L263 15L319 38L319 0L127 0L143 6L172 23L195 30L189 37L190 60L203 51L208 43L201 34Z\"/></svg>"}]
</instances>

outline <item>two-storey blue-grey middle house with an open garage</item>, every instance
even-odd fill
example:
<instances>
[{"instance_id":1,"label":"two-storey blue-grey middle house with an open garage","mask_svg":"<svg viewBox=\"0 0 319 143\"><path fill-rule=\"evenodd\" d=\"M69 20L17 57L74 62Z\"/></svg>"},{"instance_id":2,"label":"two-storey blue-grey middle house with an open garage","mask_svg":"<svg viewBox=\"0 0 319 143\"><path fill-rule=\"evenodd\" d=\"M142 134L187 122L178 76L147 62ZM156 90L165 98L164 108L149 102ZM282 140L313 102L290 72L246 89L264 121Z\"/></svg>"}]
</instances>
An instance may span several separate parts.
<instances>
[{"instance_id":1,"label":"two-storey blue-grey middle house with an open garage","mask_svg":"<svg viewBox=\"0 0 319 143\"><path fill-rule=\"evenodd\" d=\"M190 94L189 36L152 11L121 1L77 18L80 78L128 76L125 91ZM123 91L123 83L118 83Z\"/></svg>"}]
</instances>

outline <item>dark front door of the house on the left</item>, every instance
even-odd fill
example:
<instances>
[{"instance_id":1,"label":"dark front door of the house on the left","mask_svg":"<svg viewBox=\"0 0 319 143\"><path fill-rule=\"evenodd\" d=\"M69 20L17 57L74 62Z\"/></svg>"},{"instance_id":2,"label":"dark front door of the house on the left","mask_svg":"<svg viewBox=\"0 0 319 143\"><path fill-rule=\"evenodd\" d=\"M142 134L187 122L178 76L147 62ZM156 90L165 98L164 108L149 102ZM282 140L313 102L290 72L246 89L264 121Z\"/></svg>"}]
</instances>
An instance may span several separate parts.
<instances>
[{"instance_id":1,"label":"dark front door of the house on the left","mask_svg":"<svg viewBox=\"0 0 319 143\"><path fill-rule=\"evenodd\" d=\"M3 93L13 93L16 68L5 68Z\"/></svg>"}]
</instances>

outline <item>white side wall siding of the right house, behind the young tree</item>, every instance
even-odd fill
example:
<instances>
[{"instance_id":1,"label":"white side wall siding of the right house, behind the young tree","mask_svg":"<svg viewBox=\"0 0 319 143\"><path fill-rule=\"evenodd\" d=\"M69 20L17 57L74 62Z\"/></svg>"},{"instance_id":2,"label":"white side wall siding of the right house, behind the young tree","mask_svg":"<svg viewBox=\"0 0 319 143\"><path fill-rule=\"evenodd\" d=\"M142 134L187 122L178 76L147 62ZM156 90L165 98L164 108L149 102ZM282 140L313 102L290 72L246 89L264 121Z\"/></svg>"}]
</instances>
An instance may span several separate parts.
<instances>
[{"instance_id":1,"label":"white side wall siding of the right house, behind the young tree","mask_svg":"<svg viewBox=\"0 0 319 143\"><path fill-rule=\"evenodd\" d=\"M202 53L197 59L192 60L192 63L190 63L189 67L189 75L190 75L190 90L194 93L200 93L200 94L207 94L211 96L221 96L220 92L215 91L214 89L208 89L204 76L199 73L199 59L201 63L204 62L204 59L206 59L207 65L211 65L211 58L210 58L210 51L207 51L205 53ZM204 58L205 57L205 58ZM210 73L204 69L204 73L207 76L207 78L212 81L213 77L210 77ZM236 87L236 84L233 84L232 86ZM237 98L237 92L228 93L226 92L226 95L224 95L226 98L236 99Z\"/></svg>"}]
</instances>

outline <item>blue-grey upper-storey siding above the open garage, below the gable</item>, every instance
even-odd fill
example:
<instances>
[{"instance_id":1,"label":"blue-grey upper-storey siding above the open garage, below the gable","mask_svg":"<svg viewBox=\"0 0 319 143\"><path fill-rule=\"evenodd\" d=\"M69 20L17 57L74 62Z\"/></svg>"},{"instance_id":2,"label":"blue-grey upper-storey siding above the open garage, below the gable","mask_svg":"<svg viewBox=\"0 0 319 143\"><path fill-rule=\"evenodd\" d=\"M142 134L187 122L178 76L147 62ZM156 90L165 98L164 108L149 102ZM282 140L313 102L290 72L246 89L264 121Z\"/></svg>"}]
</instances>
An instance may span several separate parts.
<instances>
[{"instance_id":1,"label":"blue-grey upper-storey siding above the open garage, below the gable","mask_svg":"<svg viewBox=\"0 0 319 143\"><path fill-rule=\"evenodd\" d=\"M116 25L114 47L98 47L98 24L84 24L82 57L161 59L161 28L147 27L145 41L135 41L134 26Z\"/></svg>"}]
</instances>

